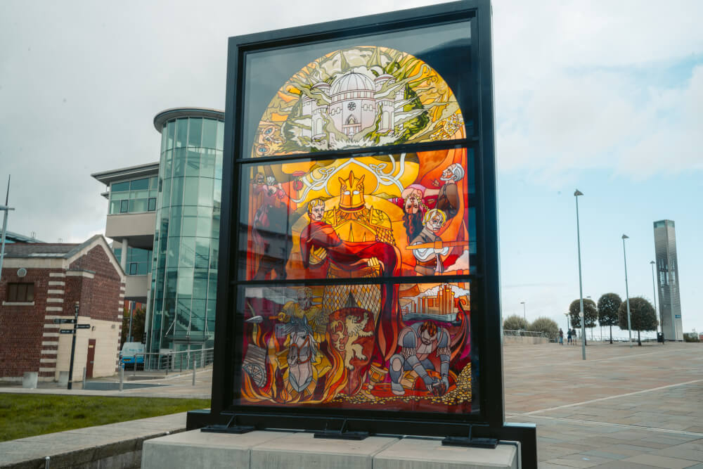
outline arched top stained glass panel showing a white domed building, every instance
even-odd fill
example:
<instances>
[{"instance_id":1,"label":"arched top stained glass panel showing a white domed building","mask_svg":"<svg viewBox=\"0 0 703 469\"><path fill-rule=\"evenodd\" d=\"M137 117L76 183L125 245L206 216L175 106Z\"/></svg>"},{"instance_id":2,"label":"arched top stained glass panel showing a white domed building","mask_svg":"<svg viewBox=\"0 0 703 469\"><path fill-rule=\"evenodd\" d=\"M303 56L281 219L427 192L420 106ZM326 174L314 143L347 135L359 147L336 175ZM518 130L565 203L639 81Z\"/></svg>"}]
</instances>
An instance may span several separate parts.
<instances>
[{"instance_id":1,"label":"arched top stained glass panel showing a white domed building","mask_svg":"<svg viewBox=\"0 0 703 469\"><path fill-rule=\"evenodd\" d=\"M273 96L250 156L463 139L449 85L427 63L380 46L333 51Z\"/></svg>"}]
</instances>

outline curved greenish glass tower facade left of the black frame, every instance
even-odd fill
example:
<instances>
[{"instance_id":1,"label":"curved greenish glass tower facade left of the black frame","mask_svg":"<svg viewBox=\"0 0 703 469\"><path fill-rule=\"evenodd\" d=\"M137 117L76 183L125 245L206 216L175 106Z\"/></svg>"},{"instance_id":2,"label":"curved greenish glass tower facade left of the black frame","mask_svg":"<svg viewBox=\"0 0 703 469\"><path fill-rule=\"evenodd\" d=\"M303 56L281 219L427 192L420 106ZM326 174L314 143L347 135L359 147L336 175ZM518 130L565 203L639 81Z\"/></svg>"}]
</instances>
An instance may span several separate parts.
<instances>
[{"instance_id":1,"label":"curved greenish glass tower facade left of the black frame","mask_svg":"<svg viewBox=\"0 0 703 469\"><path fill-rule=\"evenodd\" d=\"M224 113L195 112L197 117L192 117L179 110L172 119L165 114L160 128L150 352L212 347L217 296Z\"/></svg>"}]
</instances>

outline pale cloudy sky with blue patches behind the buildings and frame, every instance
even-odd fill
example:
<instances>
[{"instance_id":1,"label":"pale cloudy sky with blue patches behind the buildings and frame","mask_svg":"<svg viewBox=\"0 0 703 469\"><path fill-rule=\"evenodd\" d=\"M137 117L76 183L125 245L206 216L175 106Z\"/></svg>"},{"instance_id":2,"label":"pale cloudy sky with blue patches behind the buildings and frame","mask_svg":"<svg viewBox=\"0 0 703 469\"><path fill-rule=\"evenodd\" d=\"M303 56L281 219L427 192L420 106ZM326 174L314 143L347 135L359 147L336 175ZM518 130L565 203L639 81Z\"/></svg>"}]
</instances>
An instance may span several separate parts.
<instances>
[{"instance_id":1,"label":"pale cloudy sky with blue patches behind the buildings and frame","mask_svg":"<svg viewBox=\"0 0 703 469\"><path fill-rule=\"evenodd\" d=\"M436 1L0 2L8 229L103 233L93 172L155 162L159 111L224 109L227 38ZM676 221L685 331L703 330L703 2L494 1L503 316L652 297L652 221ZM304 64L302 64L304 65ZM4 202L4 200L3 200Z\"/></svg>"}]
</instances>

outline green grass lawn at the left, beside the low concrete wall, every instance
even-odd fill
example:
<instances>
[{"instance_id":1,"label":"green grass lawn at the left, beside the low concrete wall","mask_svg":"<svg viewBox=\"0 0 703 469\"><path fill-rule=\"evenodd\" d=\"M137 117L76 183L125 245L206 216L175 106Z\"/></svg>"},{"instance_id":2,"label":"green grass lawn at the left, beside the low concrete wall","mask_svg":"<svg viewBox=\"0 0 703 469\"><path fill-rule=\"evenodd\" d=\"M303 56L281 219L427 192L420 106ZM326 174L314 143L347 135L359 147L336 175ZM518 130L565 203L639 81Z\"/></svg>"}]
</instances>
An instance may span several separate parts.
<instances>
[{"instance_id":1,"label":"green grass lawn at the left, beside the low concrete wall","mask_svg":"<svg viewBox=\"0 0 703 469\"><path fill-rule=\"evenodd\" d=\"M209 399L0 394L0 442L209 406Z\"/></svg>"}]
</instances>

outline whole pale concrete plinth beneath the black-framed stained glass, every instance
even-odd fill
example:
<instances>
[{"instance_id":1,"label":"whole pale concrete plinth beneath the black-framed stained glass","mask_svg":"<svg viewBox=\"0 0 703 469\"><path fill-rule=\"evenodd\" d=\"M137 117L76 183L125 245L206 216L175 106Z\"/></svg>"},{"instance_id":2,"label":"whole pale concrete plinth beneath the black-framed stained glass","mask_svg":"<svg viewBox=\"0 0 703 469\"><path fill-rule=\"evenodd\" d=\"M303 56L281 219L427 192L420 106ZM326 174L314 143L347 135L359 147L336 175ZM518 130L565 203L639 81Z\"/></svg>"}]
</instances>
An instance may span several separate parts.
<instances>
[{"instance_id":1,"label":"whole pale concrete plinth beneath the black-framed stained glass","mask_svg":"<svg viewBox=\"0 0 703 469\"><path fill-rule=\"evenodd\" d=\"M193 430L144 442L141 467L513 469L517 458L517 449L509 445L477 449L441 446L439 439L415 437L356 441L314 438L308 432L229 435Z\"/></svg>"}]
</instances>

